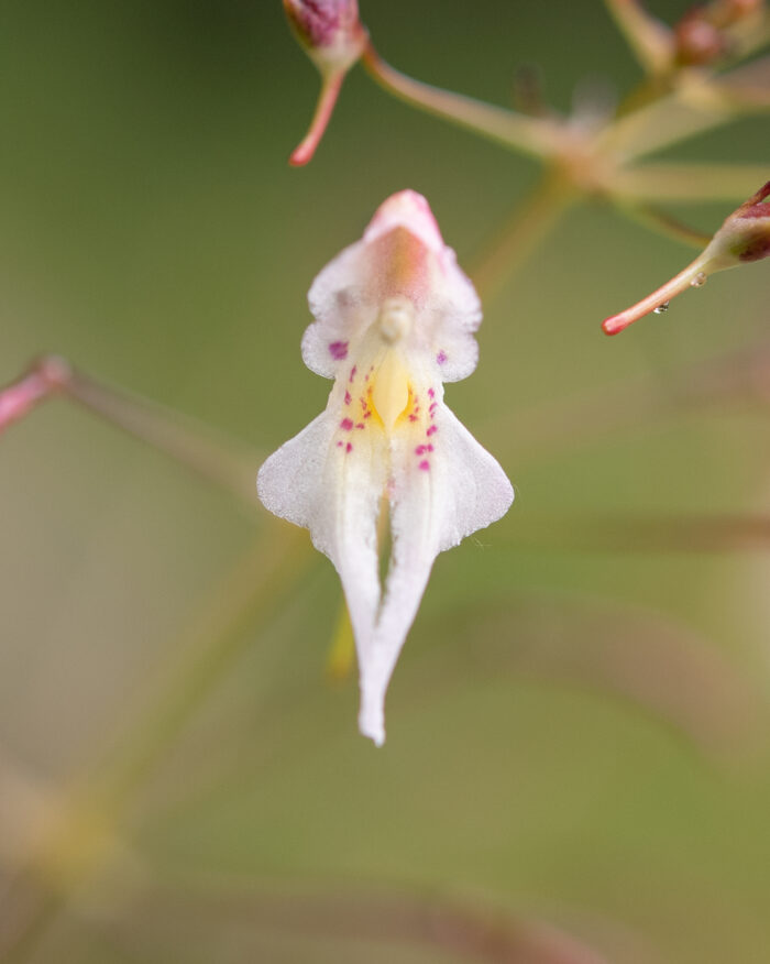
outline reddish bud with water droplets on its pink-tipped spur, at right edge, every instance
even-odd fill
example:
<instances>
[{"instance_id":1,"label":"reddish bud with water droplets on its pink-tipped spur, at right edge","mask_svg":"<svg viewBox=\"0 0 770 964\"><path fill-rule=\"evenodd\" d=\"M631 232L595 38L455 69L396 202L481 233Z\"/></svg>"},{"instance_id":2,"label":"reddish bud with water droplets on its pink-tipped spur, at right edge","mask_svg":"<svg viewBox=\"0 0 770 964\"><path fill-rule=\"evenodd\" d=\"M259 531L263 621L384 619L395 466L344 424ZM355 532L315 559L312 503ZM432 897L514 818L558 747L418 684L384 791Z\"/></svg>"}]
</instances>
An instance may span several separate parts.
<instances>
[{"instance_id":1,"label":"reddish bud with water droplets on its pink-tipped spur, at right edge","mask_svg":"<svg viewBox=\"0 0 770 964\"><path fill-rule=\"evenodd\" d=\"M675 295L702 287L708 277L770 255L770 180L725 220L704 251L678 275L619 315L602 322L606 335L617 335L650 313L661 314Z\"/></svg>"}]
</instances>

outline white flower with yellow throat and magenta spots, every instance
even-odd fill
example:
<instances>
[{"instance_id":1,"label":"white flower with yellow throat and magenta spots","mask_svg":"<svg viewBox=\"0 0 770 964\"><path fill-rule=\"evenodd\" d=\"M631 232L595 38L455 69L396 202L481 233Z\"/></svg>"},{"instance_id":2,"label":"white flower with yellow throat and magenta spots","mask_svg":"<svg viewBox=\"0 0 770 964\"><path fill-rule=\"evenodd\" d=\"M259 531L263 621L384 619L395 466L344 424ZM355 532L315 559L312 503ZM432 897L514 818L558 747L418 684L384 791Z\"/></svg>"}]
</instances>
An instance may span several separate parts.
<instances>
[{"instance_id":1,"label":"white flower with yellow throat and magenta spots","mask_svg":"<svg viewBox=\"0 0 770 964\"><path fill-rule=\"evenodd\" d=\"M342 580L360 667L361 732L385 740L385 692L433 560L503 516L499 464L443 403L471 374L481 306L428 202L406 190L318 275L302 359L334 379L326 412L264 463L257 492L310 529ZM378 525L392 550L380 580Z\"/></svg>"}]
</instances>

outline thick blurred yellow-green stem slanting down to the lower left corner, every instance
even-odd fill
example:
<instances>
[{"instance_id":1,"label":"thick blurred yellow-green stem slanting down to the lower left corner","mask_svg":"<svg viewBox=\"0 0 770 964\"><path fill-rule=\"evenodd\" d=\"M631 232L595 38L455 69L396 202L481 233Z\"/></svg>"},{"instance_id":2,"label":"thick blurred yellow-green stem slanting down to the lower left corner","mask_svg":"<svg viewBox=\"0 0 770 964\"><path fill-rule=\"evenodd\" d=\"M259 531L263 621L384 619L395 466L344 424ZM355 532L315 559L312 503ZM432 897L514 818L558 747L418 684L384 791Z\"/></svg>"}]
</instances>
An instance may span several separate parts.
<instances>
[{"instance_id":1,"label":"thick blurred yellow-green stem slanting down to the lower left corner","mask_svg":"<svg viewBox=\"0 0 770 964\"><path fill-rule=\"evenodd\" d=\"M167 672L160 695L107 748L101 765L62 792L15 868L3 900L0 960L25 960L57 911L114 854L135 793L314 559L304 532L271 524L215 588L169 647L182 661Z\"/></svg>"}]
</instances>

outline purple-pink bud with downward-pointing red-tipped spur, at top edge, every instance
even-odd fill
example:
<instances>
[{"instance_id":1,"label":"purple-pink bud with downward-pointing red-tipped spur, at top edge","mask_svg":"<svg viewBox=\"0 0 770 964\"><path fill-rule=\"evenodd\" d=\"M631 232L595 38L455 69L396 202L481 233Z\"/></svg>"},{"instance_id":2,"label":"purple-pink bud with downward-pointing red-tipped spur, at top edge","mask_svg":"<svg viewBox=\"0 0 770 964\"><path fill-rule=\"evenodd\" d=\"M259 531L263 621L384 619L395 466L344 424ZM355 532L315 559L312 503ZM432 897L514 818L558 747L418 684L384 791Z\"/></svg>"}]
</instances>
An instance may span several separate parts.
<instances>
[{"instance_id":1,"label":"purple-pink bud with downward-pointing red-tipped spur, at top edge","mask_svg":"<svg viewBox=\"0 0 770 964\"><path fill-rule=\"evenodd\" d=\"M310 129L289 164L301 166L316 153L329 123L342 80L366 46L358 0L284 0L295 36L321 74L321 94Z\"/></svg>"}]
</instances>

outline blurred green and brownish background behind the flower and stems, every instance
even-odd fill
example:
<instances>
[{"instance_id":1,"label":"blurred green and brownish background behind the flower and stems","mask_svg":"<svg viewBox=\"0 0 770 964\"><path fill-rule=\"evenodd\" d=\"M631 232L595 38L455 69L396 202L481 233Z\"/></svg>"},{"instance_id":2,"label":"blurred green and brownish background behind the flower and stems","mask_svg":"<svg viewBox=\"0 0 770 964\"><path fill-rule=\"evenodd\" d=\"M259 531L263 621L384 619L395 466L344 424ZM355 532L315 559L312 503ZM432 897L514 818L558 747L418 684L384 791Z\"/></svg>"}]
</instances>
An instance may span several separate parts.
<instances>
[{"instance_id":1,"label":"blurred green and brownish background behind the flower and stems","mask_svg":"<svg viewBox=\"0 0 770 964\"><path fill-rule=\"evenodd\" d=\"M361 6L394 65L494 102L522 63L561 110L585 78L639 79L598 0ZM537 177L361 70L290 169L318 79L278 0L6 0L0 64L0 381L61 352L243 439L254 472L324 405L299 354L306 293L374 208L424 193L471 264ZM741 121L672 156L767 146L767 121ZM732 207L678 213L711 231ZM761 384L650 415L693 365L761 342L767 266L620 338L598 327L690 256L580 207L486 305L479 369L448 401L517 500L438 560L385 747L356 732L354 680L324 678L340 592L319 556L212 670L110 826L116 851L55 907L34 875L21 910L0 906L0 934L41 914L20 960L540 960L474 957L439 925L416 939L394 900L548 922L624 964L770 960L770 566L637 545L648 516L768 508ZM584 424L586 399L631 412ZM0 465L2 898L40 814L131 743L212 593L274 536L62 402L2 438Z\"/></svg>"}]
</instances>

